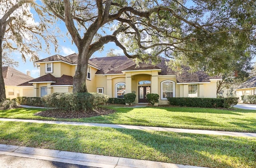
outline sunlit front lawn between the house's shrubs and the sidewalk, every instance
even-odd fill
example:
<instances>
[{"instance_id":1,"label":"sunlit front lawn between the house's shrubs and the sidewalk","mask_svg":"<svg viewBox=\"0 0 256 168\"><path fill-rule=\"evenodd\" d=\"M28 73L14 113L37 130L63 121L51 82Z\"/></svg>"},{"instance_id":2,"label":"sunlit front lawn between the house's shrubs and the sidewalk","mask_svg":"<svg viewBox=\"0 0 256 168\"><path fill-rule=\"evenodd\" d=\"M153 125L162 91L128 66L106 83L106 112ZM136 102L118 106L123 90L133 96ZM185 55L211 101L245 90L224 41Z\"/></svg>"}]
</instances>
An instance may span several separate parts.
<instances>
[{"instance_id":1,"label":"sunlit front lawn between the house's shrubs and the sidewalk","mask_svg":"<svg viewBox=\"0 0 256 168\"><path fill-rule=\"evenodd\" d=\"M1 110L0 118L39 119L256 133L256 110L192 107L115 108L116 113L80 119L33 115L44 109Z\"/></svg>"}]
</instances>

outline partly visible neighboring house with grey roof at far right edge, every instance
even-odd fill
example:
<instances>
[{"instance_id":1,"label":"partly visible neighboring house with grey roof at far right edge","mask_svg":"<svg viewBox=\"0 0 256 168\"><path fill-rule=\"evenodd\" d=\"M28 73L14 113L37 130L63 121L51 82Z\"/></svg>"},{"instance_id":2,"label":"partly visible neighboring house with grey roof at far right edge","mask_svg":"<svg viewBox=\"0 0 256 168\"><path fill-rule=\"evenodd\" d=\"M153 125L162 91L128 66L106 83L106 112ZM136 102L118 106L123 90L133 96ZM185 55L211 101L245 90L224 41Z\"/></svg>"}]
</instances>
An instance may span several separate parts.
<instances>
[{"instance_id":1,"label":"partly visible neighboring house with grey roof at far right edge","mask_svg":"<svg viewBox=\"0 0 256 168\"><path fill-rule=\"evenodd\" d=\"M256 76L240 84L235 90L236 96L239 97L239 102L242 102L241 96L256 95Z\"/></svg>"}]
</instances>

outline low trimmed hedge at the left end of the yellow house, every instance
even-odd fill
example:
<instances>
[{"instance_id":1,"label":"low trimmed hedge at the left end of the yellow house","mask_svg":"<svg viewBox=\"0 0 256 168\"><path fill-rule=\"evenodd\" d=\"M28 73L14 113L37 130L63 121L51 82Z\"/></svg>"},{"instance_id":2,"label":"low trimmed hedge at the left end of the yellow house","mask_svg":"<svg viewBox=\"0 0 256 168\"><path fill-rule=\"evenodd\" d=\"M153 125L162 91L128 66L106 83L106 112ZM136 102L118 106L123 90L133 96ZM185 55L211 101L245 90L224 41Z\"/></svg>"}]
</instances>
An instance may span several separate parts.
<instances>
[{"instance_id":1,"label":"low trimmed hedge at the left end of the yellow house","mask_svg":"<svg viewBox=\"0 0 256 168\"><path fill-rule=\"evenodd\" d=\"M22 105L43 106L41 98L38 97L17 97L16 102Z\"/></svg>"}]
</instances>

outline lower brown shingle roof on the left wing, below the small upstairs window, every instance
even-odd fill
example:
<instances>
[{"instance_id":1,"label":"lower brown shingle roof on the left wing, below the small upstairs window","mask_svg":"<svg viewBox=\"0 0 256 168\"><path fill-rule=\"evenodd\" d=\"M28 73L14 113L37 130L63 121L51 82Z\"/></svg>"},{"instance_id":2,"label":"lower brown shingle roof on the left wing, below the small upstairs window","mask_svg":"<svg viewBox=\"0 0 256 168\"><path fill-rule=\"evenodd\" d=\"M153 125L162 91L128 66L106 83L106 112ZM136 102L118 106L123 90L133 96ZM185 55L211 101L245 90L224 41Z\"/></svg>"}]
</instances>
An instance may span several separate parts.
<instances>
[{"instance_id":1,"label":"lower brown shingle roof on the left wing, below the small upstairs window","mask_svg":"<svg viewBox=\"0 0 256 168\"><path fill-rule=\"evenodd\" d=\"M52 82L51 85L73 85L73 77L68 75L62 75L60 78L55 78L54 76L52 76L52 74L46 74L28 82L24 82L19 86L32 86L33 83L38 82Z\"/></svg>"}]
</instances>

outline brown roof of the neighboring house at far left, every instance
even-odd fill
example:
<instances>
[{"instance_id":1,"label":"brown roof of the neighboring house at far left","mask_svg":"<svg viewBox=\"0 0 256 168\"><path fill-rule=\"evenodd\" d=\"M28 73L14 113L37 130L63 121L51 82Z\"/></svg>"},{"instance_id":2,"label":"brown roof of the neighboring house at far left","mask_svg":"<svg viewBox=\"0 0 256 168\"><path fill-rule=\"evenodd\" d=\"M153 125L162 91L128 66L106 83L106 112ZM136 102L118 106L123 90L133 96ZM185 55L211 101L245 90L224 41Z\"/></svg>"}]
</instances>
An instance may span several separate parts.
<instances>
[{"instance_id":1,"label":"brown roof of the neighboring house at far left","mask_svg":"<svg viewBox=\"0 0 256 168\"><path fill-rule=\"evenodd\" d=\"M19 84L34 79L31 76L28 76L9 66L2 67L2 74L4 77L4 84L6 86L18 86Z\"/></svg>"}]
</instances>

